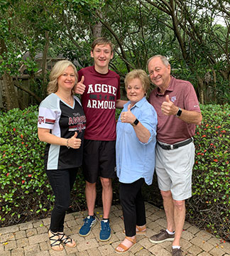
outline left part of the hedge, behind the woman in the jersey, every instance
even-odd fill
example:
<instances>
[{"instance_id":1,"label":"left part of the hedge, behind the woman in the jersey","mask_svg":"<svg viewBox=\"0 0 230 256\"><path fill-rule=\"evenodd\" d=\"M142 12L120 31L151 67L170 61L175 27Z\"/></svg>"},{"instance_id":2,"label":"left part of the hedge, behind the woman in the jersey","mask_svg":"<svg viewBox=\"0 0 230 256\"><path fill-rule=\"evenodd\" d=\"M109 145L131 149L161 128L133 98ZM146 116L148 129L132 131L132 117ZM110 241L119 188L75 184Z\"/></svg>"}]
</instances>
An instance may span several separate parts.
<instances>
[{"instance_id":1,"label":"left part of the hedge, behind the woman in the jersey","mask_svg":"<svg viewBox=\"0 0 230 256\"><path fill-rule=\"evenodd\" d=\"M38 107L1 114L0 226L44 217L53 208L55 197L45 174L45 144L38 139L37 119ZM79 172L72 191L73 210L84 205L83 184Z\"/></svg>"}]
</instances>

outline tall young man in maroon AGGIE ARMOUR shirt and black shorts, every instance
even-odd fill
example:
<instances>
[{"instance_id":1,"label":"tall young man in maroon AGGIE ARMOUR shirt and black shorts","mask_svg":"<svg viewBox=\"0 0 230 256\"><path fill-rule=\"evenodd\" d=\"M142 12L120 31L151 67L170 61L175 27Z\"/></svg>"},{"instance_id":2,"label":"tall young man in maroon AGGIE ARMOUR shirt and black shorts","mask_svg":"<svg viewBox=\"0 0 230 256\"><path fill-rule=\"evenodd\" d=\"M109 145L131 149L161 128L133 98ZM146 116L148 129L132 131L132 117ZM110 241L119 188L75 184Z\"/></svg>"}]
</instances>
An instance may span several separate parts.
<instances>
[{"instance_id":1,"label":"tall young man in maroon AGGIE ARMOUR shirt and black shorts","mask_svg":"<svg viewBox=\"0 0 230 256\"><path fill-rule=\"evenodd\" d=\"M120 100L120 78L109 70L109 61L113 58L113 45L106 38L97 38L92 43L91 57L94 65L82 68L75 92L82 95L82 107L87 119L84 133L83 172L86 181L85 195L88 216L80 235L89 235L96 223L94 205L96 200L96 182L102 183L103 220L99 240L111 238L109 212L112 201L112 178L116 177L116 107L122 108L126 101Z\"/></svg>"}]
</instances>

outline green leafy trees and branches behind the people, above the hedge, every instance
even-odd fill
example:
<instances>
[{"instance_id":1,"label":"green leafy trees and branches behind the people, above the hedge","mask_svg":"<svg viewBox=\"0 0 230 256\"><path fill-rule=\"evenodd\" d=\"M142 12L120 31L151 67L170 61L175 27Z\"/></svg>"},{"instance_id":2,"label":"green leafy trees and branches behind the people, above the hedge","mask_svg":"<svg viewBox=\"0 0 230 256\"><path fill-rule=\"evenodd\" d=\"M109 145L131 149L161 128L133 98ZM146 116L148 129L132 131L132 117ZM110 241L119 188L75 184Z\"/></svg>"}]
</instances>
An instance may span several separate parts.
<instances>
[{"instance_id":1,"label":"green leafy trees and branches behind the people, above the hedge","mask_svg":"<svg viewBox=\"0 0 230 256\"><path fill-rule=\"evenodd\" d=\"M34 57L45 52L45 46L48 56L62 54L77 69L92 65L90 45L97 35L116 46L110 67L121 80L133 68L146 70L150 56L166 55L172 73L190 80L201 102L229 103L229 6L225 2L1 0L0 38L6 49L0 47L0 75L18 75L24 64L33 83L38 71ZM223 26L217 24L219 16ZM96 25L102 25L102 31ZM28 52L30 59L23 60ZM46 85L45 73L41 75L40 88L30 88L38 96L44 96Z\"/></svg>"}]
</instances>

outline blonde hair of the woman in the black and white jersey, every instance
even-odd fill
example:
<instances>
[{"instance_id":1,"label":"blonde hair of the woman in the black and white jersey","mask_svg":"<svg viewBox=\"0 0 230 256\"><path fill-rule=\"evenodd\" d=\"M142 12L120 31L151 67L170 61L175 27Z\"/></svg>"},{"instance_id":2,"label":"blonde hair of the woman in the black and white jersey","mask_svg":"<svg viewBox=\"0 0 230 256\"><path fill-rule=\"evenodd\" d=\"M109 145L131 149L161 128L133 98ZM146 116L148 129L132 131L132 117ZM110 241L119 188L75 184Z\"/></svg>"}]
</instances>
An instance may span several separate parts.
<instances>
[{"instance_id":1,"label":"blonde hair of the woman in the black and white jersey","mask_svg":"<svg viewBox=\"0 0 230 256\"><path fill-rule=\"evenodd\" d=\"M77 84L78 74L77 74L77 69L75 65L70 60L57 61L57 63L55 63L55 65L53 66L53 69L50 72L50 82L48 83L48 87L47 87L48 95L50 95L50 93L57 92L57 89L58 89L57 78L59 78L60 75L62 75L69 66L71 66L74 70L75 81ZM74 94L74 90L72 90L72 95L73 94Z\"/></svg>"}]
</instances>

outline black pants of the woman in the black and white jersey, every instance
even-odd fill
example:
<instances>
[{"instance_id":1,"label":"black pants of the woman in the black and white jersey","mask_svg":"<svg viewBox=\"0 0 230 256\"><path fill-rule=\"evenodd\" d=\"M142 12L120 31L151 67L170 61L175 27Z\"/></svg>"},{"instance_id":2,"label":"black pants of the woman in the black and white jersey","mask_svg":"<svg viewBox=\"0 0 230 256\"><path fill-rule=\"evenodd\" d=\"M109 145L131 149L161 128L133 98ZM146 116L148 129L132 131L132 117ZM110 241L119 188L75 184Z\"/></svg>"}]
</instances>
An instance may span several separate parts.
<instances>
[{"instance_id":1,"label":"black pants of the woman in the black and white jersey","mask_svg":"<svg viewBox=\"0 0 230 256\"><path fill-rule=\"evenodd\" d=\"M70 191L75 183L77 168L47 170L46 174L55 194L55 206L51 213L50 230L63 232L65 212L70 206Z\"/></svg>"}]
</instances>

